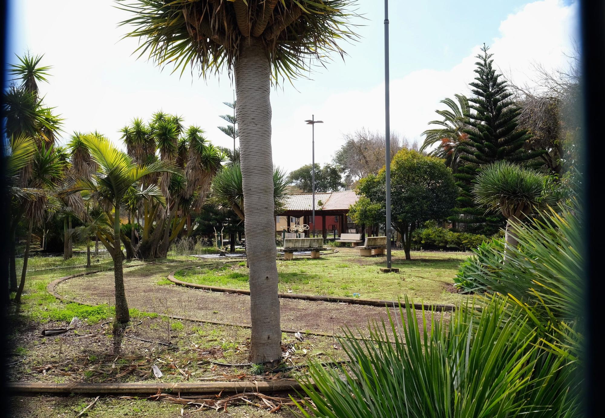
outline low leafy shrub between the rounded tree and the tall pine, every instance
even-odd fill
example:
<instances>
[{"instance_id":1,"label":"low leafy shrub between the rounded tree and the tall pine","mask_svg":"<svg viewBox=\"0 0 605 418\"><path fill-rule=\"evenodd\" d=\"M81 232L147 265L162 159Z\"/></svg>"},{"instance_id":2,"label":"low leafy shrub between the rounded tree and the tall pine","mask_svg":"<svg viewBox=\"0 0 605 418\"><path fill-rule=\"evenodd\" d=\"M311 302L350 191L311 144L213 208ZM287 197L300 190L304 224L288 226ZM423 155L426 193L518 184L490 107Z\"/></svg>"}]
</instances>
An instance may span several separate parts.
<instances>
[{"instance_id":1,"label":"low leafy shrub between the rounded tree and the tall pine","mask_svg":"<svg viewBox=\"0 0 605 418\"><path fill-rule=\"evenodd\" d=\"M485 235L468 232L452 232L437 226L434 222L425 223L422 229L415 229L411 235L415 247L424 249L446 249L456 247L462 251L478 247L488 241Z\"/></svg>"}]
</instances>

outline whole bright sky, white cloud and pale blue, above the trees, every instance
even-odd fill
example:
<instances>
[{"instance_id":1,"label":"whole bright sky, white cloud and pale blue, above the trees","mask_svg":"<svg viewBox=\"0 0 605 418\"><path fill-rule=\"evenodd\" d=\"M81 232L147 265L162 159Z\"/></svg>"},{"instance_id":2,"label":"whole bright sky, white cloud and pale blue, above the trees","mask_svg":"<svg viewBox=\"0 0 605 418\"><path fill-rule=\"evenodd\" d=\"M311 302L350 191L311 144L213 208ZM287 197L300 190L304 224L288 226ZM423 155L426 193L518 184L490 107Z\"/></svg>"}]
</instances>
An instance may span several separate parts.
<instances>
[{"instance_id":1,"label":"whole bright sky, white cloud and pale blue, above the trees","mask_svg":"<svg viewBox=\"0 0 605 418\"><path fill-rule=\"evenodd\" d=\"M44 102L65 118L62 142L72 132L99 131L116 145L119 129L134 117L148 119L162 109L204 129L215 145L233 146L217 126L230 113L234 85L226 71L206 80L186 71L155 67L132 52L136 39L121 39L118 27L129 14L111 0L13 0L8 5L12 52L44 54L52 65L41 85ZM358 0L358 42L342 45L325 68L273 88L273 163L287 171L311 162L315 114L315 161L329 163L357 129L384 132L384 4ZM439 103L456 93L470 94L475 56L485 44L494 63L516 83L535 79L534 67L565 68L577 43L578 4L543 0L391 0L391 131L422 141Z\"/></svg>"}]
</instances>

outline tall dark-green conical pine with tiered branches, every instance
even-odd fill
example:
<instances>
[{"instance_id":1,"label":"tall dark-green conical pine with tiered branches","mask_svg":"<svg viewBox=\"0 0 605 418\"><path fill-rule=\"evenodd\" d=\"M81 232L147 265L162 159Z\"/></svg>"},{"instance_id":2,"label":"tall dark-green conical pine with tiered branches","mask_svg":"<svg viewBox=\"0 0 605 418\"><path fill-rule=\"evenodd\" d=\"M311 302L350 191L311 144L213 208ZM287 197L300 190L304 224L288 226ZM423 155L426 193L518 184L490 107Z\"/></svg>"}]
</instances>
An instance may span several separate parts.
<instances>
[{"instance_id":1,"label":"tall dark-green conical pine with tiered branches","mask_svg":"<svg viewBox=\"0 0 605 418\"><path fill-rule=\"evenodd\" d=\"M499 214L486 214L474 203L471 187L477 171L481 166L499 160L530 163L529 160L545 151L523 149L531 134L517 128L522 108L509 99L512 93L508 91L506 80L500 80L502 74L497 74L492 67L493 54L489 54L488 50L489 47L483 44L483 54L477 55L479 61L475 63L477 77L470 83L474 96L468 99L468 128L463 129L468 139L458 148L459 158L464 164L454 174L460 193L452 219L466 224L469 231L491 235L502 227L504 220Z\"/></svg>"}]
</instances>

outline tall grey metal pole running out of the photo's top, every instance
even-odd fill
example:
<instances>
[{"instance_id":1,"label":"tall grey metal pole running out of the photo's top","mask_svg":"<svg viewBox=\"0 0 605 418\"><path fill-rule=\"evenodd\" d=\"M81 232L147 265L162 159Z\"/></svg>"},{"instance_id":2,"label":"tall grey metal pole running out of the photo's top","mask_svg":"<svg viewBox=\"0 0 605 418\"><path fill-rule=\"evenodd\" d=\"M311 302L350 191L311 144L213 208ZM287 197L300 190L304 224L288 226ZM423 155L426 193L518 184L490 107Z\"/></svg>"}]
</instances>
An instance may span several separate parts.
<instances>
[{"instance_id":1,"label":"tall grey metal pole running out of the photo's top","mask_svg":"<svg viewBox=\"0 0 605 418\"><path fill-rule=\"evenodd\" d=\"M385 111L385 168L387 188L387 269L391 268L391 121L388 75L388 0L384 0L384 111Z\"/></svg>"}]
</instances>

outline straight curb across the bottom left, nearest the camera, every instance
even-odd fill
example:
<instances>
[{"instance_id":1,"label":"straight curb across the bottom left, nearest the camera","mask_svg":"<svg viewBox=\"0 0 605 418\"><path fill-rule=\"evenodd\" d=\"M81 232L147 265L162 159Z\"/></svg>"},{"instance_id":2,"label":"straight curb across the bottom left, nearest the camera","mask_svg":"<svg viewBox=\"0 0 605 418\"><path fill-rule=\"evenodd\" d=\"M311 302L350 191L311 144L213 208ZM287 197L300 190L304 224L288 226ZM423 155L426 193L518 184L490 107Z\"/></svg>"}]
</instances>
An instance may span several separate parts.
<instances>
[{"instance_id":1,"label":"straight curb across the bottom left, nearest the camera","mask_svg":"<svg viewBox=\"0 0 605 418\"><path fill-rule=\"evenodd\" d=\"M214 394L260 392L273 393L301 391L296 380L282 379L272 382L178 382L178 383L50 383L50 382L7 382L11 393L54 393L54 394L146 394L154 395L158 391L180 394Z\"/></svg>"}]
</instances>

